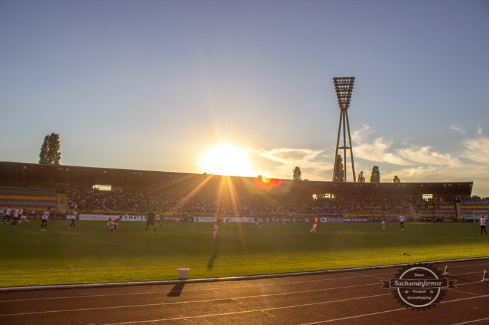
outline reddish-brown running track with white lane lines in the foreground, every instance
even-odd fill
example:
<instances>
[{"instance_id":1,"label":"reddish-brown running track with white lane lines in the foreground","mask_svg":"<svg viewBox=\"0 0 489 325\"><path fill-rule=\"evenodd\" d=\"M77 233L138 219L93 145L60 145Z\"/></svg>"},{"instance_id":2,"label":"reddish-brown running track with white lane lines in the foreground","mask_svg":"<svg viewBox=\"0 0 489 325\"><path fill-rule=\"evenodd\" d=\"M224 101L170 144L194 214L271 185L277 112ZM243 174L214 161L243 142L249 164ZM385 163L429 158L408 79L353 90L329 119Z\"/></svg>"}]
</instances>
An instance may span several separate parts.
<instances>
[{"instance_id":1,"label":"reddish-brown running track with white lane lines in the foreground","mask_svg":"<svg viewBox=\"0 0 489 325\"><path fill-rule=\"evenodd\" d=\"M270 279L0 292L0 324L489 324L489 258L449 267L440 304L401 306L398 267Z\"/></svg>"}]
</instances>

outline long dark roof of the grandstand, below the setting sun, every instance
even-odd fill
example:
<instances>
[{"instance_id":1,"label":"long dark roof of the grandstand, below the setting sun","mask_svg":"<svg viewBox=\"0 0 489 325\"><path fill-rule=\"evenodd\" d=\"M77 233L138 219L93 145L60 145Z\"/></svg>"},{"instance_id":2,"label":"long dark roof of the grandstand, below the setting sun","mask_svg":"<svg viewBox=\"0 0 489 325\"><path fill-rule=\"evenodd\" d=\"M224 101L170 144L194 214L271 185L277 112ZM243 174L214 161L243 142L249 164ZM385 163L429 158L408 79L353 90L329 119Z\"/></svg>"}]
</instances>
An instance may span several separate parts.
<instances>
[{"instance_id":1,"label":"long dark roof of the grandstand, below the setting sun","mask_svg":"<svg viewBox=\"0 0 489 325\"><path fill-rule=\"evenodd\" d=\"M45 186L53 188L56 184L69 184L73 187L92 187L94 184L110 184L123 188L141 188L154 191L182 191L188 193L192 188L213 191L223 184L224 177L206 174L172 173L151 170L132 170L116 168L95 168L65 165L40 165L0 161L0 182L3 186ZM258 188L257 193L265 191L270 195L313 195L331 193L334 195L401 197L433 194L433 197L461 195L470 197L473 182L417 182L417 183L353 183L293 181L281 179L269 183L257 182L253 177L226 177L240 193L250 186ZM229 183L229 181L226 181Z\"/></svg>"}]
</instances>

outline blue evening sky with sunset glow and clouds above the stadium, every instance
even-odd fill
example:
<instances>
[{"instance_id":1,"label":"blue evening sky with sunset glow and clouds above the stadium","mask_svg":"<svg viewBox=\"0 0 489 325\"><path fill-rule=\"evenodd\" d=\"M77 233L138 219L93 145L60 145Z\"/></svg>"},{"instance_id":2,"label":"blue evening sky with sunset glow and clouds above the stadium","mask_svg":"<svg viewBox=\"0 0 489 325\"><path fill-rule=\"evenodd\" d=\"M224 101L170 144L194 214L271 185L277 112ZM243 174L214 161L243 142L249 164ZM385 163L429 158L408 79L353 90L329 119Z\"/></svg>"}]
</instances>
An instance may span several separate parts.
<instances>
[{"instance_id":1,"label":"blue evening sky with sunset glow and clouds above the stadium","mask_svg":"<svg viewBox=\"0 0 489 325\"><path fill-rule=\"evenodd\" d=\"M0 0L0 160L56 132L64 165L219 174L228 143L211 164L330 181L354 76L356 174L489 197L488 35L476 0Z\"/></svg>"}]
</instances>

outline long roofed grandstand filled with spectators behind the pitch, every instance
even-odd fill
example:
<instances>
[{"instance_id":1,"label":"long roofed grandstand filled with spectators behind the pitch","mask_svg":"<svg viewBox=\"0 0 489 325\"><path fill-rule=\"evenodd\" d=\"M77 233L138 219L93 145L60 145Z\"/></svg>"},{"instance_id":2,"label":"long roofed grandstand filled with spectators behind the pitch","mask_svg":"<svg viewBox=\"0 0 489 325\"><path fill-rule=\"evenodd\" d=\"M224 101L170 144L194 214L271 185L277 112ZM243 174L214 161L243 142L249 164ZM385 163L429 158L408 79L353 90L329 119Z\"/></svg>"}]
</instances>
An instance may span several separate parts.
<instances>
[{"instance_id":1,"label":"long roofed grandstand filled with spectators behind the pitch","mask_svg":"<svg viewBox=\"0 0 489 325\"><path fill-rule=\"evenodd\" d=\"M97 191L96 184L115 190ZM461 220L472 218L473 211L489 210L489 202L470 200L472 182L292 181L0 161L0 186L0 209L49 206L57 211L229 216L292 213L369 220L400 214L412 220ZM422 200L426 194L433 200ZM238 206L232 202L236 198Z\"/></svg>"}]
</instances>

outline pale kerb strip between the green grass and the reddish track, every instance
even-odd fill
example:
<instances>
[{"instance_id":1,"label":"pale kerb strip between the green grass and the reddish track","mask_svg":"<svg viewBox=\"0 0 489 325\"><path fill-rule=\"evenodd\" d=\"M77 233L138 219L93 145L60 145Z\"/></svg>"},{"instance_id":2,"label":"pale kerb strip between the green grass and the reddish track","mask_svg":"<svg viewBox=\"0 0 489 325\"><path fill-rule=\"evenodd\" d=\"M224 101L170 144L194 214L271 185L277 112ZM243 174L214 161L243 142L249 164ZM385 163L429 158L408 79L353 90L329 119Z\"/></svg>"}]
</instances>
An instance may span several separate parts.
<instances>
[{"instance_id":1,"label":"pale kerb strip between the green grass and the reddish track","mask_svg":"<svg viewBox=\"0 0 489 325\"><path fill-rule=\"evenodd\" d=\"M454 260L442 260L442 261L425 261L416 263L417 265L426 265L434 263L460 263L464 261L480 261L488 259L489 256L484 257L474 257L474 258L458 258ZM351 267L347 269L334 269L334 270L320 270L320 271L308 271L308 272L292 272L292 273L279 273L279 274L260 274L260 275L249 275L249 276L231 276L224 278L209 278L209 279L189 279L185 280L186 283L206 283L206 282L218 282L218 281L239 281L239 280L253 280L253 279L274 279L286 276L305 276L305 275L319 275L319 274L330 274L337 272L356 272L364 270L377 270L386 269L390 267L399 267L412 265L413 263L401 263L401 264L391 264L391 265L376 265L367 267ZM489 263L484 263L480 265L489 265ZM458 267L465 267L469 265L460 265ZM456 267L456 266L454 266ZM0 292L8 291L26 291L26 290L51 290L51 289L72 289L72 288L106 288L115 286L144 286L144 285L168 285L181 283L183 280L165 280L165 281L137 281L137 282L115 282L115 283L87 283L87 284L68 284L68 285L49 285L49 286L25 286L25 287L8 287L0 288Z\"/></svg>"}]
</instances>

